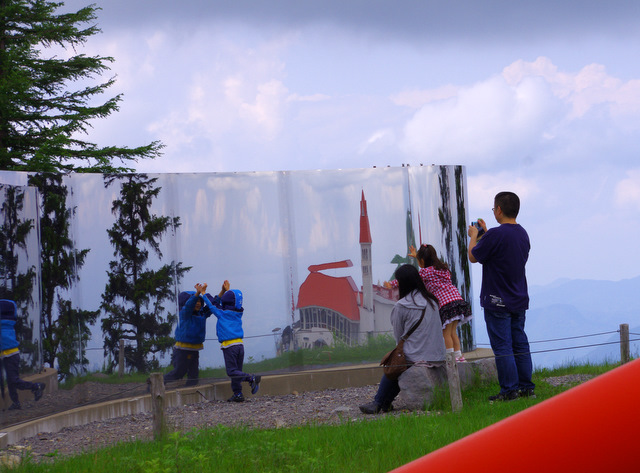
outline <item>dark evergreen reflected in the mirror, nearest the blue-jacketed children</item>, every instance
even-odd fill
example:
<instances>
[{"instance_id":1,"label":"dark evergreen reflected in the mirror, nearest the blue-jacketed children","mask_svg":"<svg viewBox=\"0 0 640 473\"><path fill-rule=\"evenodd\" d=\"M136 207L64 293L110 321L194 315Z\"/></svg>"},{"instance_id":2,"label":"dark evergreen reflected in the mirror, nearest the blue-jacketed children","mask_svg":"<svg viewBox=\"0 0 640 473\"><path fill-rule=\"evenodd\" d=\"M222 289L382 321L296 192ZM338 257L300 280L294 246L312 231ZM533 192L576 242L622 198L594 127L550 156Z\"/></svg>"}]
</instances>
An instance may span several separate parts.
<instances>
[{"instance_id":1,"label":"dark evergreen reflected in the mirror, nearest the blue-jacketed children","mask_svg":"<svg viewBox=\"0 0 640 473\"><path fill-rule=\"evenodd\" d=\"M106 176L105 186L121 181L120 198L113 201L116 216L107 231L115 259L109 263L108 282L102 294L102 332L108 368L118 359L120 339L126 364L137 371L156 368L150 354L167 352L173 345L171 329L176 321L175 295L182 276L191 268L172 261L159 269L149 268L150 252L162 261L160 240L180 225L179 217L157 216L151 204L161 188L157 178L145 174ZM164 303L170 302L169 307Z\"/></svg>"}]
</instances>

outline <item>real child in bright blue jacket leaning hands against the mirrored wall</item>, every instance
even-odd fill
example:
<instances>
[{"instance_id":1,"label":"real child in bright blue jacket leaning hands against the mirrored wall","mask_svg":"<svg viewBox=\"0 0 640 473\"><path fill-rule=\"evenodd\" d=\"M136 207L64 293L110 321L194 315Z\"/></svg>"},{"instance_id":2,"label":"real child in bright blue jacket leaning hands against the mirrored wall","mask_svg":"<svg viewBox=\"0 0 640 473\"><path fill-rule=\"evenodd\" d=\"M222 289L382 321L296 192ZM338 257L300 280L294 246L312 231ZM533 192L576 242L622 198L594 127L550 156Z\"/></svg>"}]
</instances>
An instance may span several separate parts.
<instances>
[{"instance_id":1,"label":"real child in bright blue jacket leaning hands against the mirrored wall","mask_svg":"<svg viewBox=\"0 0 640 473\"><path fill-rule=\"evenodd\" d=\"M205 304L211 313L218 319L216 323L216 333L220 348L224 355L224 365L227 376L231 378L231 389L233 396L229 402L243 402L242 382L247 382L251 386L251 394L256 394L260 387L260 375L250 375L242 371L244 364L244 330L242 329L242 292L238 289L229 289L229 281L224 281L220 294L213 300L205 297Z\"/></svg>"}]
</instances>

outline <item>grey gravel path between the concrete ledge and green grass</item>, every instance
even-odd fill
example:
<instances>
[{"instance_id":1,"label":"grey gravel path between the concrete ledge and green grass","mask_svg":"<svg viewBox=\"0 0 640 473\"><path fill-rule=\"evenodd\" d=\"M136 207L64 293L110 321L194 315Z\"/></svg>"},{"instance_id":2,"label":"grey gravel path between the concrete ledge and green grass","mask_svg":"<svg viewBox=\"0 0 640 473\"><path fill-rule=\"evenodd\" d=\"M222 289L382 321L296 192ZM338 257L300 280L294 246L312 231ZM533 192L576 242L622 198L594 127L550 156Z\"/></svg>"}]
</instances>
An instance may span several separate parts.
<instances>
[{"instance_id":1,"label":"grey gravel path between the concrete ledge and green grass","mask_svg":"<svg viewBox=\"0 0 640 473\"><path fill-rule=\"evenodd\" d=\"M591 377L568 375L547 378L545 381L555 386L575 385ZM101 389L104 394L109 390L126 391L130 387L90 386L89 392L93 392L92 389ZM168 409L167 424L172 430L187 431L195 427L216 425L281 428L307 423L333 424L372 419L372 416L363 415L358 406L370 402L376 390L377 386L364 386L293 393L286 396L248 396L244 403L203 401ZM45 405L46 400L42 408L45 408ZM396 404L397 410L389 415L401 412L402 407ZM28 449L35 461L41 461L53 455L74 455L121 441L151 439L152 436L151 414L138 414L69 427L56 433L41 433L22 440L3 453L19 456Z\"/></svg>"}]
</instances>

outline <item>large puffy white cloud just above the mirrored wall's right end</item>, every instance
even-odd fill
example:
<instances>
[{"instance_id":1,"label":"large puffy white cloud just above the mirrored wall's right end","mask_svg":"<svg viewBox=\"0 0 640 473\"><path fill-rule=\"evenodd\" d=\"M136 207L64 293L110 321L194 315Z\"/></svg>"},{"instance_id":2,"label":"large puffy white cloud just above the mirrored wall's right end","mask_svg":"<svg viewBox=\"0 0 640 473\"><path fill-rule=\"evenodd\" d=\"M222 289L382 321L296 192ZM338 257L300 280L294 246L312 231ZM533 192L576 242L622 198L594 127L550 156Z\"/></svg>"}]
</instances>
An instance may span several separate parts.
<instances>
[{"instance_id":1,"label":"large puffy white cloud just above the mirrored wall's right end","mask_svg":"<svg viewBox=\"0 0 640 473\"><path fill-rule=\"evenodd\" d=\"M494 76L422 107L406 124L401 147L430 162L491 167L539 146L556 108L544 81L528 77L511 86Z\"/></svg>"}]
</instances>

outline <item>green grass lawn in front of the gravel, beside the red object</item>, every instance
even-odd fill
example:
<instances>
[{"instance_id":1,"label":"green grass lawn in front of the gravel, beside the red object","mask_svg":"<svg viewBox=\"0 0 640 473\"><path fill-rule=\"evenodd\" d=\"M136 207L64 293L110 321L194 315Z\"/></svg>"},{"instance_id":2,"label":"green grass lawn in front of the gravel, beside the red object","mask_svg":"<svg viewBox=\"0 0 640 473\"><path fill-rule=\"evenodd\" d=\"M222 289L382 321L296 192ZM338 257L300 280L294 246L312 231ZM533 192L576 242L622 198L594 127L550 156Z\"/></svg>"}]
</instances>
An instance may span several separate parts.
<instances>
[{"instance_id":1,"label":"green grass lawn in front of the gravel, beside the red object","mask_svg":"<svg viewBox=\"0 0 640 473\"><path fill-rule=\"evenodd\" d=\"M490 404L487 397L498 392L497 384L478 385L463 393L464 407L456 413L441 400L440 410L429 413L372 416L371 420L338 426L217 427L169 433L162 441L123 443L72 458L52 458L48 463L36 464L27 454L22 464L10 471L386 472L570 388L553 387L544 378L598 375L616 366L575 365L536 371L536 399Z\"/></svg>"}]
</instances>

